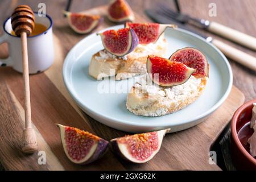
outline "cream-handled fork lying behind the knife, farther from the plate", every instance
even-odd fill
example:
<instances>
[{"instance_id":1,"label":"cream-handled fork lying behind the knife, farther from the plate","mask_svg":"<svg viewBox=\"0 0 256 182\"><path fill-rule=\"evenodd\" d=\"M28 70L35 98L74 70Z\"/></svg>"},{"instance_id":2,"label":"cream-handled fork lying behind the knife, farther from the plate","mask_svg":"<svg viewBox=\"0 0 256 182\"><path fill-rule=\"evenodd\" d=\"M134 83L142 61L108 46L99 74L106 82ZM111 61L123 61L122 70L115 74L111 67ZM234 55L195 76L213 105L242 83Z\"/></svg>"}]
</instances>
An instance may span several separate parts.
<instances>
[{"instance_id":1,"label":"cream-handled fork lying behind the knife, farther from the plate","mask_svg":"<svg viewBox=\"0 0 256 182\"><path fill-rule=\"evenodd\" d=\"M232 40L233 42L256 51L256 38L232 28L226 27L220 23L210 22L209 20L198 19L187 14L177 13L163 4L157 5L156 12L168 18L174 19L177 22L189 23L199 28L204 28L210 32L213 32L214 34L221 35L226 39Z\"/></svg>"}]
</instances>

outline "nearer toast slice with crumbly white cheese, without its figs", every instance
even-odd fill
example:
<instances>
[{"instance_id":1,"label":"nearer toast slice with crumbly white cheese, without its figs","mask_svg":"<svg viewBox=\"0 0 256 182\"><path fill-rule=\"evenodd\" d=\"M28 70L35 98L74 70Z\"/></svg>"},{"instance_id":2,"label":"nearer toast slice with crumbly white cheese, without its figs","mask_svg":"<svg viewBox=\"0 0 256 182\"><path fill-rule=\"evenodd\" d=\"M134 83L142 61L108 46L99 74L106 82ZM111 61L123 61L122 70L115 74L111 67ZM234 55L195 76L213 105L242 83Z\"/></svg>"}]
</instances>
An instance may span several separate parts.
<instances>
[{"instance_id":1,"label":"nearer toast slice with crumbly white cheese, without its figs","mask_svg":"<svg viewBox=\"0 0 256 182\"><path fill-rule=\"evenodd\" d=\"M191 76L184 84L172 87L148 85L146 80L148 76L145 75L131 88L126 107L137 115L160 116L174 113L197 100L208 77Z\"/></svg>"}]
</instances>

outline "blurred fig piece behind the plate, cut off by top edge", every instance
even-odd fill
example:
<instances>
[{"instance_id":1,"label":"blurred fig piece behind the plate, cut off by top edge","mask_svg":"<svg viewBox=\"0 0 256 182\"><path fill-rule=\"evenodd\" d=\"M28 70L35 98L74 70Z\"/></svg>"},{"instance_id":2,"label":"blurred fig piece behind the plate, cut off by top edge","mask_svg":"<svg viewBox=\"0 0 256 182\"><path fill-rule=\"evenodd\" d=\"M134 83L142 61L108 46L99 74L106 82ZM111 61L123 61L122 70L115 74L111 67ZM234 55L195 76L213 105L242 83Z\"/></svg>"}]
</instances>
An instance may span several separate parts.
<instances>
[{"instance_id":1,"label":"blurred fig piece behind the plate, cut off by top edge","mask_svg":"<svg viewBox=\"0 0 256 182\"><path fill-rule=\"evenodd\" d=\"M134 20L133 11L125 0L111 1L107 16L112 22L125 22Z\"/></svg>"}]
</instances>

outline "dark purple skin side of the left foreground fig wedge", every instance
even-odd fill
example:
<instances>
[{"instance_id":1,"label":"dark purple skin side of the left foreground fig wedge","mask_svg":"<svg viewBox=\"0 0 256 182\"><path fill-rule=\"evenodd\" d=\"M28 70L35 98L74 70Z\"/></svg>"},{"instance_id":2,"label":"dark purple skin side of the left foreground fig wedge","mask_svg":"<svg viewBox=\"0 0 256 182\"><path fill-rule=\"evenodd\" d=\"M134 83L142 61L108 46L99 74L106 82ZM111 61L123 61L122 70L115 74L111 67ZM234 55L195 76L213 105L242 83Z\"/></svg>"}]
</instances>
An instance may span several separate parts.
<instances>
[{"instance_id":1,"label":"dark purple skin side of the left foreground fig wedge","mask_svg":"<svg viewBox=\"0 0 256 182\"><path fill-rule=\"evenodd\" d=\"M104 139L100 139L98 141L98 146L97 146L97 149L94 152L94 154L82 164L89 164L89 163L94 162L97 159L100 159L106 153L106 151L107 151L106 149L108 148L108 146L109 146L108 141L106 141Z\"/></svg>"}]
</instances>

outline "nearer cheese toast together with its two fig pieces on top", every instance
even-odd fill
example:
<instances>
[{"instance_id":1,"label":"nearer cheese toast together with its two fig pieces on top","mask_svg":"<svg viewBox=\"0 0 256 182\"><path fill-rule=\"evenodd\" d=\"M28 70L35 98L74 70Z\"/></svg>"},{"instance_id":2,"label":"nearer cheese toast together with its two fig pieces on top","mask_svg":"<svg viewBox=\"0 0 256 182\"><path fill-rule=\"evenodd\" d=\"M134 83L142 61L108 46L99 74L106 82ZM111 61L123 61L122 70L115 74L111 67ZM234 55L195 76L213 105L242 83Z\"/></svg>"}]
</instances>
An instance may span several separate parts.
<instances>
[{"instance_id":1,"label":"nearer cheese toast together with its two fig pieces on top","mask_svg":"<svg viewBox=\"0 0 256 182\"><path fill-rule=\"evenodd\" d=\"M206 57L195 48L180 49L170 59L149 55L148 75L134 84L127 96L127 109L144 116L166 115L183 109L205 89L208 71Z\"/></svg>"}]
</instances>

